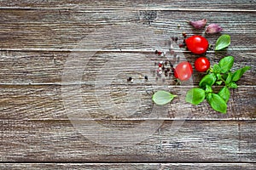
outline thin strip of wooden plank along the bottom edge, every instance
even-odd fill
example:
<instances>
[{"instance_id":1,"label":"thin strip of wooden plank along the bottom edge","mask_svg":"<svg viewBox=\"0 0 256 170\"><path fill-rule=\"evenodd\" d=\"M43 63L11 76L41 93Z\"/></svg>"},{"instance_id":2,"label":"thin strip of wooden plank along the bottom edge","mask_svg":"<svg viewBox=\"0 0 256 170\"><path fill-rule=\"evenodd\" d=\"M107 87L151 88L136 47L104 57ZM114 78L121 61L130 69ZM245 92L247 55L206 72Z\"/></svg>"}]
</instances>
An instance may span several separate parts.
<instances>
[{"instance_id":1,"label":"thin strip of wooden plank along the bottom edge","mask_svg":"<svg viewBox=\"0 0 256 170\"><path fill-rule=\"evenodd\" d=\"M1 169L234 169L253 170L253 163L0 163Z\"/></svg>"}]
</instances>

